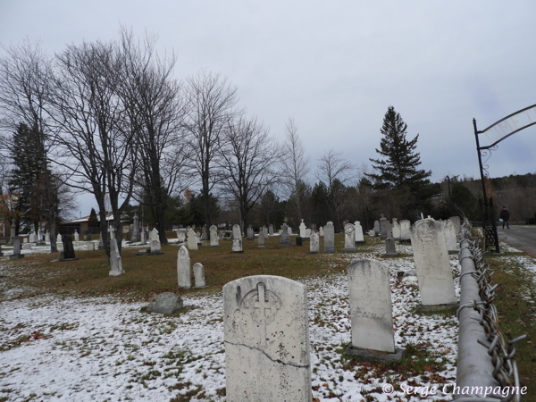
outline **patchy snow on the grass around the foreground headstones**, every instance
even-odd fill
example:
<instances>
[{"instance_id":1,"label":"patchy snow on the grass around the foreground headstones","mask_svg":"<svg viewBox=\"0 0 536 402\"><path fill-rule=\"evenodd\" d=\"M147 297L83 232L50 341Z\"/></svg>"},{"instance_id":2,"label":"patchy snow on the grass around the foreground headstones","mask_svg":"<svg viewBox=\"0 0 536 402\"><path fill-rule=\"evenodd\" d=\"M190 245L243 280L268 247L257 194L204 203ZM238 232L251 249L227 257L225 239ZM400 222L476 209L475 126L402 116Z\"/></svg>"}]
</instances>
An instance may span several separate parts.
<instances>
[{"instance_id":1,"label":"patchy snow on the grass around the foreground headstones","mask_svg":"<svg viewBox=\"0 0 536 402\"><path fill-rule=\"evenodd\" d=\"M33 250L32 250L33 251ZM398 247L411 255L410 246ZM371 253L319 255L325 264L348 264ZM456 379L457 322L452 316L416 313L416 281L398 280L415 268L413 257L382 259L389 265L397 347L415 345L444 364L440 373L378 372L372 364L344 359L351 341L345 272L306 278L309 297L314 398L357 401L412 397L388 384L452 383ZM457 256L450 257L459 293ZM0 275L2 269L0 266ZM0 285L1 286L1 285ZM1 289L0 289L1 290ZM143 303L113 297L30 297L4 301L0 316L0 400L26 401L224 401L225 364L222 293L184 297L185 312L163 316L140 312ZM413 397L415 398L415 397ZM447 399L437 394L428 400ZM415 400L415 399L412 399Z\"/></svg>"}]
</instances>

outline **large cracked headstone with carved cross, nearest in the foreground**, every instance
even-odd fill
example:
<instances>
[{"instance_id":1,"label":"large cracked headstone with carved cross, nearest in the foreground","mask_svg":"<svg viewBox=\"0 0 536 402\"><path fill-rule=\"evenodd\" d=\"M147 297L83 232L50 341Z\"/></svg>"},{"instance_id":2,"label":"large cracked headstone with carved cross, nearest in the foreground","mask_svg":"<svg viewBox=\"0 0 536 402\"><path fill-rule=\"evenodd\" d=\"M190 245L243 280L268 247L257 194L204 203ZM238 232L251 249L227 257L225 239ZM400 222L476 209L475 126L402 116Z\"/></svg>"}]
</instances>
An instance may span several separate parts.
<instances>
[{"instance_id":1,"label":"large cracked headstone with carved cross, nearest in the foreground","mask_svg":"<svg viewBox=\"0 0 536 402\"><path fill-rule=\"evenodd\" d=\"M226 398L311 402L306 285L269 275L223 287Z\"/></svg>"}]
</instances>

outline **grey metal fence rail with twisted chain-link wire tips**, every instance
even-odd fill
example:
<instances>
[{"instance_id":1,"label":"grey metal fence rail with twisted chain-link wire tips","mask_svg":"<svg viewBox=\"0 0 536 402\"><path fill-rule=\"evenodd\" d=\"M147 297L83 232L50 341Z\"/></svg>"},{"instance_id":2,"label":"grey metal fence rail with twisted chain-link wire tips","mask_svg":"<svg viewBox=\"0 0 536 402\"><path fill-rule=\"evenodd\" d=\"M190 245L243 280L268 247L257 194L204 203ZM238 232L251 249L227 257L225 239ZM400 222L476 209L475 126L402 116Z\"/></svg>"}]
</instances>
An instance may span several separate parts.
<instances>
[{"instance_id":1,"label":"grey metal fence rail with twisted chain-link wire tips","mask_svg":"<svg viewBox=\"0 0 536 402\"><path fill-rule=\"evenodd\" d=\"M484 263L480 239L468 221L462 226L461 238L456 402L519 402L522 387L515 343L526 335L512 339L508 334L505 339L499 331L493 305L497 285L491 284L493 271Z\"/></svg>"}]
</instances>

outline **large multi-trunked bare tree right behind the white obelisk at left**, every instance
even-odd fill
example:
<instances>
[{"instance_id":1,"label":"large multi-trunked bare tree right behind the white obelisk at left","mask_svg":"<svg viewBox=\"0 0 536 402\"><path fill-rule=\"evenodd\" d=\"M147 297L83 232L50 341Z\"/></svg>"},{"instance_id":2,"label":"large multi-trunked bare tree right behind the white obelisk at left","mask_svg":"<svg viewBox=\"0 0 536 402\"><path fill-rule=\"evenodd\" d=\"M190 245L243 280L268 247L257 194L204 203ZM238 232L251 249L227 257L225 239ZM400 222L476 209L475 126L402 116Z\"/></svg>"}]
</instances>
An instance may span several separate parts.
<instances>
[{"instance_id":1,"label":"large multi-trunked bare tree right behind the white obelisk at left","mask_svg":"<svg viewBox=\"0 0 536 402\"><path fill-rule=\"evenodd\" d=\"M113 226L120 235L121 213L129 205L137 165L138 131L118 96L123 60L113 43L67 46L56 55L50 96L50 115L62 133L56 163L69 175L71 187L95 196L108 256L105 197L109 196ZM121 241L118 247L121 252Z\"/></svg>"}]
</instances>

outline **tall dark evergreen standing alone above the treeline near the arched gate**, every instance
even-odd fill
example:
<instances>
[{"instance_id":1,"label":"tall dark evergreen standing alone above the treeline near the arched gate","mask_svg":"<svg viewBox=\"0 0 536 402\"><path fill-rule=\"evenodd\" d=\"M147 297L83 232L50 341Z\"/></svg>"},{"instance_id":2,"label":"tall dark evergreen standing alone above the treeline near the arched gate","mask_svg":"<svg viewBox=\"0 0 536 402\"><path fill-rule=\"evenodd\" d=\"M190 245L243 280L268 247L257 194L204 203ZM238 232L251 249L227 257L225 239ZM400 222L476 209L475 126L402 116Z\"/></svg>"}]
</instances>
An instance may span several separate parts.
<instances>
[{"instance_id":1,"label":"tall dark evergreen standing alone above the treeline near the arched gate","mask_svg":"<svg viewBox=\"0 0 536 402\"><path fill-rule=\"evenodd\" d=\"M380 131L383 137L376 152L381 158L370 159L375 172L365 175L373 181L373 188L380 190L378 194L389 191L395 204L385 205L387 210L398 211L404 218L413 217L419 209L428 210L434 192L428 180L431 171L418 168L421 155L415 149L419 135L406 139L407 124L393 106L387 109Z\"/></svg>"}]
</instances>

